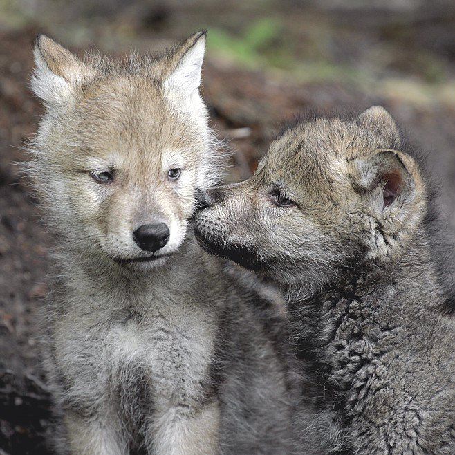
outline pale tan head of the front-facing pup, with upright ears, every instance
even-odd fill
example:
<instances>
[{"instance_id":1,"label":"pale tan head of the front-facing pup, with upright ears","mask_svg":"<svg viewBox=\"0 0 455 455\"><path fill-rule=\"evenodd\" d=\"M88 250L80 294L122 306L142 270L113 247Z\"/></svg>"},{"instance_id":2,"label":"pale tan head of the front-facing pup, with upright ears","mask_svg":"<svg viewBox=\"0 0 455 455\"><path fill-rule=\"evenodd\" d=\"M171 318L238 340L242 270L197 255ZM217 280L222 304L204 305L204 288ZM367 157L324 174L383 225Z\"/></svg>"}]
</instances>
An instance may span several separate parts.
<instances>
[{"instance_id":1,"label":"pale tan head of the front-facing pup, with upright ears","mask_svg":"<svg viewBox=\"0 0 455 455\"><path fill-rule=\"evenodd\" d=\"M204 50L198 32L157 58L79 59L37 37L32 90L46 112L30 173L68 248L147 270L183 243L195 189L218 169Z\"/></svg>"}]
</instances>

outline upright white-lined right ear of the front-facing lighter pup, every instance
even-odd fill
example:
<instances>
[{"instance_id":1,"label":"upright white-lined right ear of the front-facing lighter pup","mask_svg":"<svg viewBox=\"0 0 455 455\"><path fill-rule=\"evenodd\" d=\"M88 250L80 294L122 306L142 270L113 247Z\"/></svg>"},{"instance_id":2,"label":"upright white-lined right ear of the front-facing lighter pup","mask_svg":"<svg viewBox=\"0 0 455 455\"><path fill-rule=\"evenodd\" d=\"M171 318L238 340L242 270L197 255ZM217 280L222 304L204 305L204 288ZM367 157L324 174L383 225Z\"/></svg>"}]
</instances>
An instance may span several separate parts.
<instances>
[{"instance_id":1,"label":"upright white-lined right ear of the front-facing lighter pup","mask_svg":"<svg viewBox=\"0 0 455 455\"><path fill-rule=\"evenodd\" d=\"M205 53L205 31L194 33L171 51L163 88L180 97L190 97L201 85L201 69Z\"/></svg>"}]
</instances>

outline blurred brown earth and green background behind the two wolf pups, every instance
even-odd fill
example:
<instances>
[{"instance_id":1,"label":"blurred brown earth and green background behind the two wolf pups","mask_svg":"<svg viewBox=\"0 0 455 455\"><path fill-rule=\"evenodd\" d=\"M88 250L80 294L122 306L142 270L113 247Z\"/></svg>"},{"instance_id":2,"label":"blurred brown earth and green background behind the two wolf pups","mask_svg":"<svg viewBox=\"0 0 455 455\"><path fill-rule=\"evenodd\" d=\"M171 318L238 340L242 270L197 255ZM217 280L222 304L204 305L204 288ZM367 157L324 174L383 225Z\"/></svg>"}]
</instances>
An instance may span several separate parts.
<instances>
[{"instance_id":1,"label":"blurred brown earth and green background behind the two wolf pups","mask_svg":"<svg viewBox=\"0 0 455 455\"><path fill-rule=\"evenodd\" d=\"M50 431L35 321L52 239L13 165L41 113L28 89L32 40L44 32L77 52L120 55L163 50L201 28L203 95L236 151L228 180L248 176L300 111L382 104L426 156L453 249L453 0L0 0L0 454L48 453Z\"/></svg>"}]
</instances>

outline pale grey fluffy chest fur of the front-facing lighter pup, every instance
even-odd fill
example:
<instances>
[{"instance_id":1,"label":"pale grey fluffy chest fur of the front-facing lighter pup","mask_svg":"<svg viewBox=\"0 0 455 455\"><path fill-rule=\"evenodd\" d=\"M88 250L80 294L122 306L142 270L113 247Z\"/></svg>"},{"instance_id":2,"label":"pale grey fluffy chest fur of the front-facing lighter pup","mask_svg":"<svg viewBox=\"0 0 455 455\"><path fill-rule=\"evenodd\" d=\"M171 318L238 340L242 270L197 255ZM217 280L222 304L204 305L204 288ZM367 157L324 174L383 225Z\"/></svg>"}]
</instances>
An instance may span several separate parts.
<instances>
[{"instance_id":1,"label":"pale grey fluffy chest fur of the front-facing lighter pup","mask_svg":"<svg viewBox=\"0 0 455 455\"><path fill-rule=\"evenodd\" d=\"M185 295L141 297L120 309L115 295L106 305L78 299L54 325L66 405L91 414L109 403L137 428L151 411L191 414L210 399L216 310Z\"/></svg>"}]
</instances>

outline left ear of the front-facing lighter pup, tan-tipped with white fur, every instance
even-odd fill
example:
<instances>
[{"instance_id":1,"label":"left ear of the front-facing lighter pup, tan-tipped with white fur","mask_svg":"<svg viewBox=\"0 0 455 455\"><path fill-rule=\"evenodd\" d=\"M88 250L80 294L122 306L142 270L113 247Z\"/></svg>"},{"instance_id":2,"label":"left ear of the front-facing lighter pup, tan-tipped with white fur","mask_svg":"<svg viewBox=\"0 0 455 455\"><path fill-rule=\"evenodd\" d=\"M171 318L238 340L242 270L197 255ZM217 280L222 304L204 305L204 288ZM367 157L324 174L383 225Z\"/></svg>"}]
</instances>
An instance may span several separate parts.
<instances>
[{"instance_id":1,"label":"left ear of the front-facing lighter pup, tan-tipped with white fur","mask_svg":"<svg viewBox=\"0 0 455 455\"><path fill-rule=\"evenodd\" d=\"M82 60L46 35L37 36L33 53L32 91L48 106L66 104L75 86L92 73Z\"/></svg>"}]
</instances>

